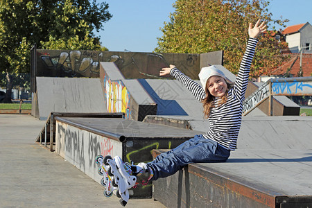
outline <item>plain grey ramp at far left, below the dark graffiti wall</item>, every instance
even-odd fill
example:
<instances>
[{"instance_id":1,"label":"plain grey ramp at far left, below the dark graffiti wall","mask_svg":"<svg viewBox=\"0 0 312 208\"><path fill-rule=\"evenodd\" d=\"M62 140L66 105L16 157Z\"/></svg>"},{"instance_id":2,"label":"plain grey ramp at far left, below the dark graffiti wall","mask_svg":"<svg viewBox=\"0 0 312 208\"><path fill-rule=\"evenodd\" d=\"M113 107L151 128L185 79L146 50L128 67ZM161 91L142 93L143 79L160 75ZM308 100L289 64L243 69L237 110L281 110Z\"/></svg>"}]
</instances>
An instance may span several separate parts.
<instances>
[{"instance_id":1,"label":"plain grey ramp at far left, below the dark graffiti wall","mask_svg":"<svg viewBox=\"0 0 312 208\"><path fill-rule=\"evenodd\" d=\"M106 112L99 78L37 77L37 118L51 112Z\"/></svg>"}]
</instances>

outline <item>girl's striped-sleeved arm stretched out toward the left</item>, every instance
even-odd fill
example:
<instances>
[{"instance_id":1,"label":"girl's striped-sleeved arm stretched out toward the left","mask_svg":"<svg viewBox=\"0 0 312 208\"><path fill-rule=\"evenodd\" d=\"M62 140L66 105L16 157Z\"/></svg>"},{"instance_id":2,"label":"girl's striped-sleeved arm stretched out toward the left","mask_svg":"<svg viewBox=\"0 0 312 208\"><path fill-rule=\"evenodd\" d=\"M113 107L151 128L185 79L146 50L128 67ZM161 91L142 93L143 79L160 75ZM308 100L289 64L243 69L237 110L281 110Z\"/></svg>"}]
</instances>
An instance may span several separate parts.
<instances>
[{"instance_id":1,"label":"girl's striped-sleeved arm stretched out toward the left","mask_svg":"<svg viewBox=\"0 0 312 208\"><path fill-rule=\"evenodd\" d=\"M165 76L171 74L175 79L179 80L180 83L182 83L184 86L191 91L193 96L198 99L198 101L202 101L203 98L205 98L206 94L204 89L202 89L202 86L198 85L194 80L189 78L188 76L184 75L181 71L175 67L175 65L170 65L170 67L163 68L161 71L159 71L160 76Z\"/></svg>"}]
</instances>

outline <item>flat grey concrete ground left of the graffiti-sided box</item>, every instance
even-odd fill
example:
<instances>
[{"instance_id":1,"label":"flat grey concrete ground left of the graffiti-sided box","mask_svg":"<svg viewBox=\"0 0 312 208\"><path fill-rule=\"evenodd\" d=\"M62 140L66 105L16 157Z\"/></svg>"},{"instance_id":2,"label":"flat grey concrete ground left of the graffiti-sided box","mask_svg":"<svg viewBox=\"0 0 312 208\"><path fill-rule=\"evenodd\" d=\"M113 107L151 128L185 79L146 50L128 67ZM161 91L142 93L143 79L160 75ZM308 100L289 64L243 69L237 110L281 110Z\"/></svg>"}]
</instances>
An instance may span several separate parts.
<instances>
[{"instance_id":1,"label":"flat grey concrete ground left of the graffiti-sided box","mask_svg":"<svg viewBox=\"0 0 312 208\"><path fill-rule=\"evenodd\" d=\"M45 121L0 114L0 207L121 207L119 198L35 143ZM164 207L153 199L130 199L126 207Z\"/></svg>"}]
</instances>

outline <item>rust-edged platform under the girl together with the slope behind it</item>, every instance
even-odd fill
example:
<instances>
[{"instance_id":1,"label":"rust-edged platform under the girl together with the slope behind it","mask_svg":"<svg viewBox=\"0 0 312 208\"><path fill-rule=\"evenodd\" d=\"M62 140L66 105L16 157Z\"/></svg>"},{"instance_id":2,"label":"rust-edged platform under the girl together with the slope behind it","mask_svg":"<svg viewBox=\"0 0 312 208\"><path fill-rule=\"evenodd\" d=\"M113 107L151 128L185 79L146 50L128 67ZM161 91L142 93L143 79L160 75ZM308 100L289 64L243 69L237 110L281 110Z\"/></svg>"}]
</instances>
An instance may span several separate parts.
<instances>
[{"instance_id":1,"label":"rust-edged platform under the girl together with the slope behind it","mask_svg":"<svg viewBox=\"0 0 312 208\"><path fill-rule=\"evenodd\" d=\"M311 116L245 116L227 162L189 164L155 181L153 198L166 207L311 207L311 133Z\"/></svg>"}]
</instances>

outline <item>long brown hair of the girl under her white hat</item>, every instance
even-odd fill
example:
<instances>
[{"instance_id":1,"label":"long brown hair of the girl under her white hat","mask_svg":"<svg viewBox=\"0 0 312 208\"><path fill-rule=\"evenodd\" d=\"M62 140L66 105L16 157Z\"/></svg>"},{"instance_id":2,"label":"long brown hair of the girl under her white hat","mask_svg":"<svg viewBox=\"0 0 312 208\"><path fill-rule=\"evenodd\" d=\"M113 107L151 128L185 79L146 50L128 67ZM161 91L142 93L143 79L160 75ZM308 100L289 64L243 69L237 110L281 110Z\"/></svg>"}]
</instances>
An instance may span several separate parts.
<instances>
[{"instance_id":1,"label":"long brown hair of the girl under her white hat","mask_svg":"<svg viewBox=\"0 0 312 208\"><path fill-rule=\"evenodd\" d=\"M205 87L205 92L206 92L206 96L205 98L202 99L202 105L204 107L204 116L206 119L209 118L209 114L210 114L210 110L212 107L216 107L216 105L222 105L224 103L227 102L227 94L229 92L229 89L231 89L233 87L232 83L229 83L226 79L225 83L227 83L227 90L225 92L225 94L221 97L220 101L218 103L214 102L214 98L215 96L211 95L207 86ZM208 83L208 80L207 80Z\"/></svg>"}]
</instances>

